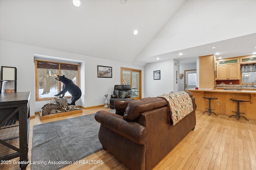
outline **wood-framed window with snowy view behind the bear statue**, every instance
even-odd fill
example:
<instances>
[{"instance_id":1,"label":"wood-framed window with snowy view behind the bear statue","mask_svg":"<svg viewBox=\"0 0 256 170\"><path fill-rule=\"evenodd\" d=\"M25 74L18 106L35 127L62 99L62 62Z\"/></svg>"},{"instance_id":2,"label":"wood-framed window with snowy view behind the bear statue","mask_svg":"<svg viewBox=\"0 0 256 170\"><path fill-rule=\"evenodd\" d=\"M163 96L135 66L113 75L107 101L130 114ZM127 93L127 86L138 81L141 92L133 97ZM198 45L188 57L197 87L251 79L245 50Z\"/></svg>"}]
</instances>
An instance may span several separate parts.
<instances>
[{"instance_id":1,"label":"wood-framed window with snowy view behind the bear statue","mask_svg":"<svg viewBox=\"0 0 256 170\"><path fill-rule=\"evenodd\" d=\"M57 75L65 75L79 85L79 65L49 61L35 61L36 66L36 101L51 100L62 90L63 83L56 80ZM66 92L65 97L71 96Z\"/></svg>"}]
</instances>

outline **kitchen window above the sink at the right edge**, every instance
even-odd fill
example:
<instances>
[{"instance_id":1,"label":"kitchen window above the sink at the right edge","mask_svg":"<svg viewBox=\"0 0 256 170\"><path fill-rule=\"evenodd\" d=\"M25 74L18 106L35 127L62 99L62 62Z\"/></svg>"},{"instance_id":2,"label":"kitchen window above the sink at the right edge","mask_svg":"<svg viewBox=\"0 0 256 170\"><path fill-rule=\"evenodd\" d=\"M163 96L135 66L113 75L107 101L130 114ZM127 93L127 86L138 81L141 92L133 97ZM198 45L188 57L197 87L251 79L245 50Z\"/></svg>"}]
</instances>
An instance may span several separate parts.
<instances>
[{"instance_id":1,"label":"kitchen window above the sink at the right edge","mask_svg":"<svg viewBox=\"0 0 256 170\"><path fill-rule=\"evenodd\" d=\"M256 82L256 64L241 65L242 83Z\"/></svg>"}]
</instances>

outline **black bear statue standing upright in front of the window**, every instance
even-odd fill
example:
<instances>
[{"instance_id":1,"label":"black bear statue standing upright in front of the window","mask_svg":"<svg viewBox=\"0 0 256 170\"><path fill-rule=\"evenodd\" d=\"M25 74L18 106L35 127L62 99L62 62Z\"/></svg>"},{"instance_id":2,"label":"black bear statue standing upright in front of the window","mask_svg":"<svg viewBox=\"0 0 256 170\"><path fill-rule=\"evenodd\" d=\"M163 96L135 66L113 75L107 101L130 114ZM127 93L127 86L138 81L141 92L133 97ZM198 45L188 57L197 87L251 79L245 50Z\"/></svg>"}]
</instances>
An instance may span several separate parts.
<instances>
[{"instance_id":1,"label":"black bear statue standing upright in front of the window","mask_svg":"<svg viewBox=\"0 0 256 170\"><path fill-rule=\"evenodd\" d=\"M72 95L70 105L76 105L75 104L76 100L80 99L82 95L80 88L76 86L76 84L74 84L72 80L66 78L64 75L63 76L58 75L58 77L56 77L55 79L62 82L63 86L62 86L62 91L54 96L60 96L62 94L60 98L63 98L66 92L69 92Z\"/></svg>"}]
</instances>

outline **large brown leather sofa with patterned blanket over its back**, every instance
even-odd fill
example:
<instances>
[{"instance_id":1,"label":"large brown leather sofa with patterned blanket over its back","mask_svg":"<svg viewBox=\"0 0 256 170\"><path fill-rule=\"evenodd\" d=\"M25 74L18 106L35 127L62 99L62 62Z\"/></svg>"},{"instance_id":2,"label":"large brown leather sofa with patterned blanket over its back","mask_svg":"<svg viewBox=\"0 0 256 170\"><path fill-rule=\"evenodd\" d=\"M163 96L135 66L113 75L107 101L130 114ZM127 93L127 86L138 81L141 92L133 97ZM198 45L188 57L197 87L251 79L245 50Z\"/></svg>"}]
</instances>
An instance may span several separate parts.
<instances>
[{"instance_id":1,"label":"large brown leather sofa with patterned blanket over its back","mask_svg":"<svg viewBox=\"0 0 256 170\"><path fill-rule=\"evenodd\" d=\"M102 146L132 170L151 170L196 125L196 104L193 111L176 125L168 124L168 106L162 98L116 101L116 113L98 111ZM122 116L123 114L123 116Z\"/></svg>"}]
</instances>

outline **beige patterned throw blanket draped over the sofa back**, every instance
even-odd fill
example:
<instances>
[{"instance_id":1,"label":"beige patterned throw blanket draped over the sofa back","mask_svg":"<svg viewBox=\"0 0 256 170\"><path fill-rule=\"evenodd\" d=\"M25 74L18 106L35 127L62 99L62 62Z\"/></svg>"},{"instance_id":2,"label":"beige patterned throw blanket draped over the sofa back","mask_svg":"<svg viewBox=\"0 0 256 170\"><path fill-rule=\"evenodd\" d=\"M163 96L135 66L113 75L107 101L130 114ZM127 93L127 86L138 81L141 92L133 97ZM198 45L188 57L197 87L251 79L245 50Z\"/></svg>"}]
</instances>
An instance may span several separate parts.
<instances>
[{"instance_id":1,"label":"beige patterned throw blanket draped over the sofa back","mask_svg":"<svg viewBox=\"0 0 256 170\"><path fill-rule=\"evenodd\" d=\"M193 111L192 100L186 92L176 92L158 96L168 103L168 123L173 126Z\"/></svg>"}]
</instances>

